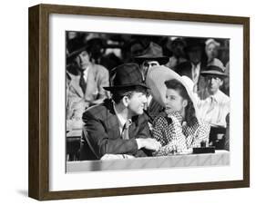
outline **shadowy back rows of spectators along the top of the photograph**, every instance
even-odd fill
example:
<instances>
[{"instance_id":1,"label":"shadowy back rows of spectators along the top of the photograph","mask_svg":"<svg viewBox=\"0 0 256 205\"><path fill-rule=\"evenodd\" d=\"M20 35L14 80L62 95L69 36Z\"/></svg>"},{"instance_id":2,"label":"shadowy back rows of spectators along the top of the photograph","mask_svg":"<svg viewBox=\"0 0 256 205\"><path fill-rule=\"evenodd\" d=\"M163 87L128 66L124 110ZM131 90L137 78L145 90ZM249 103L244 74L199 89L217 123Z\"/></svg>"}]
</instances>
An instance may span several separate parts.
<instances>
[{"instance_id":1,"label":"shadowy back rows of spectators along the top of the photograph","mask_svg":"<svg viewBox=\"0 0 256 205\"><path fill-rule=\"evenodd\" d=\"M174 71L179 69L180 63L189 61L188 48L199 45L201 62L205 64L217 62L226 73L229 73L229 39L67 32L66 42L67 69L72 63L68 62L68 56L82 47L86 47L91 62L101 64L111 72L119 64L134 62L134 57L143 54L153 42L161 46L163 55L169 56L166 65ZM224 93L229 94L228 86L229 83L226 83L222 88Z\"/></svg>"}]
</instances>

